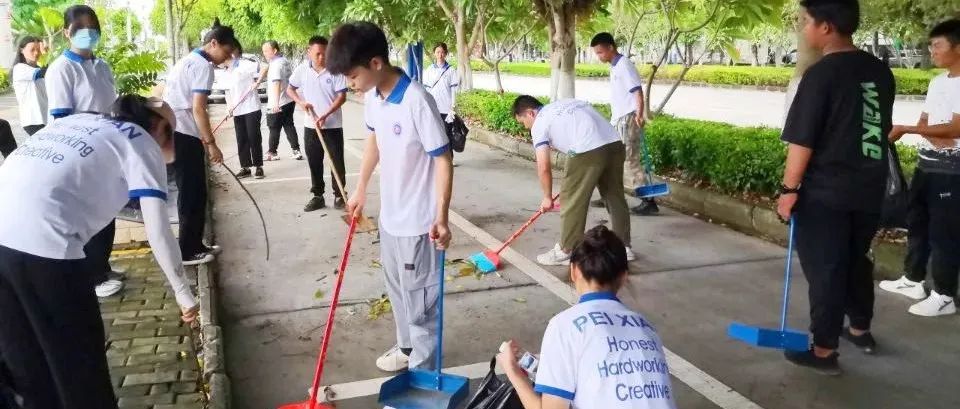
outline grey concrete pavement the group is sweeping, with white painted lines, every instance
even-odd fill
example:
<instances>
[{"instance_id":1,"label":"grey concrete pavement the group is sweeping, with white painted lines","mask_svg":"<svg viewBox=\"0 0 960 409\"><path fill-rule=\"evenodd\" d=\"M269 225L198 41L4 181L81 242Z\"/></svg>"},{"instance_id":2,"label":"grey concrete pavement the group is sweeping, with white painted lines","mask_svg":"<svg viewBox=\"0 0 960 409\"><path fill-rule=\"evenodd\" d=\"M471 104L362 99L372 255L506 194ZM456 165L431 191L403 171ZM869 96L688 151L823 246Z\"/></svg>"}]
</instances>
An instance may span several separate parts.
<instances>
[{"instance_id":1,"label":"grey concrete pavement the group is sweeping, with white painted lines","mask_svg":"<svg viewBox=\"0 0 960 409\"><path fill-rule=\"evenodd\" d=\"M353 185L365 132L361 107L348 103L345 110L347 183ZM221 131L218 137L228 158L235 153L231 132ZM266 139L266 129L264 135ZM492 238L507 237L534 212L541 196L531 163L483 145L467 149L456 158L450 258L466 257L489 246ZM222 169L216 170L212 190L214 230L225 248L219 258L219 286L227 370L234 407L241 409L305 399L346 233L340 211L302 212L310 197L306 162L289 159L285 141L280 151L284 158L266 164L266 179L245 182L264 211L270 261L264 260L253 206ZM237 166L235 159L228 164ZM369 192L371 215L379 203L376 180ZM329 180L327 191L332 203ZM605 219L604 211L594 209L589 224ZM783 248L668 209L656 217L634 217L632 223L639 257L631 264L621 296L655 323L665 346L676 354L670 365L679 407L960 405L955 377L943 376L960 369L957 317L908 316L907 300L878 294L879 355L864 356L844 344L846 374L825 378L791 366L778 352L751 349L725 335L732 320L776 325ZM507 338L528 350L539 349L547 321L568 305L570 288L560 282L567 281L564 268L544 270L530 260L558 237L559 215L548 214L513 246L502 278L450 279L444 366L472 365L461 369L482 376L486 362ZM377 379L390 375L377 370L374 360L393 345L392 318L368 317L368 302L384 292L377 253L375 235L354 240L322 381L336 384L343 399L339 408L375 407ZM793 327L804 328L806 285L799 266L795 271L790 319Z\"/></svg>"}]
</instances>

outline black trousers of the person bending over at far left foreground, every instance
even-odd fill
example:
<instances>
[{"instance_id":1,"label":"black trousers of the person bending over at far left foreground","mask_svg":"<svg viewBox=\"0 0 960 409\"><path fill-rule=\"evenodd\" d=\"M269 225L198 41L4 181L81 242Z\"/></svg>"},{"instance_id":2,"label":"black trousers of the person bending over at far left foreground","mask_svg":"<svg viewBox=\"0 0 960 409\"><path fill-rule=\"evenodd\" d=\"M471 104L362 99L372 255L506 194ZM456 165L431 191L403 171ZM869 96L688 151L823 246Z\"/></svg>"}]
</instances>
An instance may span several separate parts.
<instances>
[{"instance_id":1,"label":"black trousers of the person bending over at far left foreground","mask_svg":"<svg viewBox=\"0 0 960 409\"><path fill-rule=\"evenodd\" d=\"M117 408L85 273L83 260L0 246L0 351L25 409Z\"/></svg>"}]
</instances>

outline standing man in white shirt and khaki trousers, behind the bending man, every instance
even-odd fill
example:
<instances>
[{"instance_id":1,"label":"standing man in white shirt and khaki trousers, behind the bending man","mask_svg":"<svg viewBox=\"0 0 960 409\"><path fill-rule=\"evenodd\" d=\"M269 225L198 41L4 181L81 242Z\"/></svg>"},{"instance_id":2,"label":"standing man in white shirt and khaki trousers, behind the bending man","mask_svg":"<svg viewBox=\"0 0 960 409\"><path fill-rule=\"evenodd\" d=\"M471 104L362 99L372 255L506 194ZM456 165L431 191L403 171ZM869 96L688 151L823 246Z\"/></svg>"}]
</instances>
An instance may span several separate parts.
<instances>
[{"instance_id":1,"label":"standing man in white shirt and khaki trousers, behind the bending man","mask_svg":"<svg viewBox=\"0 0 960 409\"><path fill-rule=\"evenodd\" d=\"M637 66L629 57L617 51L617 43L610 33L599 33L590 41L597 58L610 63L610 123L617 129L627 149L627 170L630 186L645 185L647 181L642 161L644 126L646 125L643 81ZM603 207L603 201L593 203ZM633 214L647 216L660 212L657 202L643 199L639 206L630 209Z\"/></svg>"}]
</instances>

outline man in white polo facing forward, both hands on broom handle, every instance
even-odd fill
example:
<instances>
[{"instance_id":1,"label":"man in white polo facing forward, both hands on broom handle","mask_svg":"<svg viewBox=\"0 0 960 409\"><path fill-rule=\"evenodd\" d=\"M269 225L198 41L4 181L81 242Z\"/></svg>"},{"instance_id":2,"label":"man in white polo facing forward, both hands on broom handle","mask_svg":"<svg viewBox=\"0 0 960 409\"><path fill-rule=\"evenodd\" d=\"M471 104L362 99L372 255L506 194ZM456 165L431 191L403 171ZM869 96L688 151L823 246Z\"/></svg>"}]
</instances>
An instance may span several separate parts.
<instances>
[{"instance_id":1,"label":"man in white polo facing forward, both hands on broom handle","mask_svg":"<svg viewBox=\"0 0 960 409\"><path fill-rule=\"evenodd\" d=\"M325 53L327 39L313 36L307 48L307 61L297 66L290 76L287 95L303 108L303 149L307 151L307 163L310 165L310 192L313 197L303 208L305 212L323 209L323 138L330 149L335 169L330 169L333 183L333 207L343 209L346 205L345 192L337 186L333 172L340 180L346 180L343 163L343 113L340 108L347 102L347 81L343 75L334 75L327 70ZM317 126L320 127L317 134ZM344 182L346 183L346 182Z\"/></svg>"}]
</instances>

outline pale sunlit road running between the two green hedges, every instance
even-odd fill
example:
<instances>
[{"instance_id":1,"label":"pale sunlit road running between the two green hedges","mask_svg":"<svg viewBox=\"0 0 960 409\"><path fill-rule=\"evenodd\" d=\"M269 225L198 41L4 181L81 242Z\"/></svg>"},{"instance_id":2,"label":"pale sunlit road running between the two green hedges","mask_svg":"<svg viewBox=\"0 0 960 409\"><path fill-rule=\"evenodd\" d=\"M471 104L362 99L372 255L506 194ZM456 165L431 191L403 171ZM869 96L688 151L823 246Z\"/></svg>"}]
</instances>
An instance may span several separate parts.
<instances>
[{"instance_id":1,"label":"pale sunlit road running between the two green hedges","mask_svg":"<svg viewBox=\"0 0 960 409\"><path fill-rule=\"evenodd\" d=\"M504 75L503 87L510 92L532 95L550 95L550 78ZM474 86L495 89L493 74L473 74ZM654 84L653 106L669 91L669 85ZM578 79L577 98L590 102L609 102L609 81L605 79ZM741 126L783 127L786 94L776 91L737 90L710 87L680 86L667 103L666 112L682 118L727 122ZM913 124L920 118L923 102L897 101L893 120L897 124ZM904 142L915 143L907 137Z\"/></svg>"}]
</instances>

